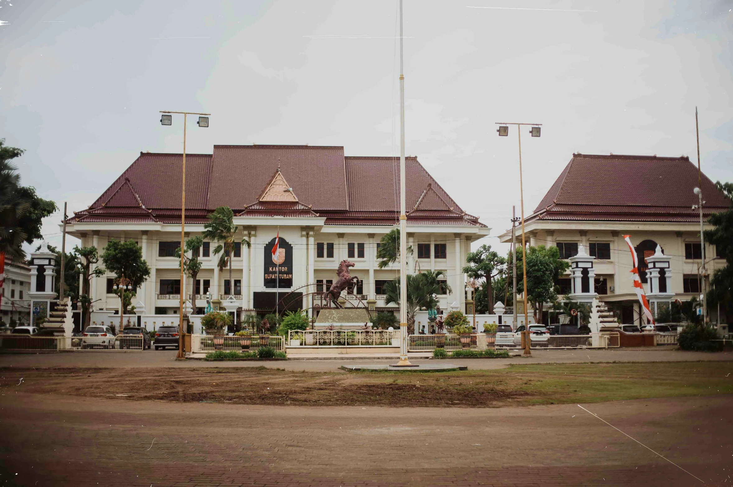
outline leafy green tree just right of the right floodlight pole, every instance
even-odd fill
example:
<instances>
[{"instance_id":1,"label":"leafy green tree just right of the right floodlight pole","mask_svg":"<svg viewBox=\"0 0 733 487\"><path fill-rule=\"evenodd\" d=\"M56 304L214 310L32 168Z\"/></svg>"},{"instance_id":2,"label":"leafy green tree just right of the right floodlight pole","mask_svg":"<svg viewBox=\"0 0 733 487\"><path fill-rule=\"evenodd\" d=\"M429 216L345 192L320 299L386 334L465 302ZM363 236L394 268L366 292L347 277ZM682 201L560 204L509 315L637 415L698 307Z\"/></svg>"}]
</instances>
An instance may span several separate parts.
<instances>
[{"instance_id":1,"label":"leafy green tree just right of the right floodlight pole","mask_svg":"<svg viewBox=\"0 0 733 487\"><path fill-rule=\"evenodd\" d=\"M517 249L517 277L522 275L524 261L522 249ZM527 300L534 308L534 322L542 323L545 303L557 301L556 282L560 275L570 268L570 264L560 259L558 248L545 245L527 249ZM517 292L524 292L523 279L517 278Z\"/></svg>"}]
</instances>

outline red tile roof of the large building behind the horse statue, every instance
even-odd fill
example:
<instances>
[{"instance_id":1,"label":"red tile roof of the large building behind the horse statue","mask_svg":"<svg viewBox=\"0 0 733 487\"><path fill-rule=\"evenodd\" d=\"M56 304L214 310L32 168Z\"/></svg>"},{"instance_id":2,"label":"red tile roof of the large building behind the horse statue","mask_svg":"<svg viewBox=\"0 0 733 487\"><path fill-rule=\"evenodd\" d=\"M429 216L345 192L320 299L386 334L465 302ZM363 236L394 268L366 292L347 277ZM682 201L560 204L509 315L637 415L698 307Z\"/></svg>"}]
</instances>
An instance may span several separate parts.
<instances>
[{"instance_id":1,"label":"red tile roof of the large building behind the horse statue","mask_svg":"<svg viewBox=\"0 0 733 487\"><path fill-rule=\"evenodd\" d=\"M180 221L180 154L141 152L89 209L71 220ZM258 201L273 174L298 203ZM410 224L483 226L406 157ZM220 206L243 216L322 216L326 224L392 225L399 218L399 158L345 157L341 146L214 146L213 155L186 155L186 222L205 223Z\"/></svg>"}]
</instances>

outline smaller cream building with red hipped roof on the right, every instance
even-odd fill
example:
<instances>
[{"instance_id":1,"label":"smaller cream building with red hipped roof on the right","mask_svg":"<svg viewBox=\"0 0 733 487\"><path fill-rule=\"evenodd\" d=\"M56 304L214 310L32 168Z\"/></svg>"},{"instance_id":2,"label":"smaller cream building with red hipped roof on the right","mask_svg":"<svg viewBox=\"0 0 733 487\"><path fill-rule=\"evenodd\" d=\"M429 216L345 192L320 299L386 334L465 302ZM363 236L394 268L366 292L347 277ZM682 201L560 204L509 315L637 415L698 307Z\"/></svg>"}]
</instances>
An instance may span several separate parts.
<instances>
[{"instance_id":1,"label":"smaller cream building with red hipped roof on the right","mask_svg":"<svg viewBox=\"0 0 733 487\"><path fill-rule=\"evenodd\" d=\"M528 245L556 245L570 260L561 294L586 302L595 297L616 308L623 323L640 324L633 261L623 236L630 235L635 246L652 308L699 297L702 251L693 193L698 186L705 219L730 207L707 176L701 174L698 182L698 168L688 157L573 154L525 219ZM499 238L511 242L512 233ZM704 253L710 274L725 265L714 246L705 245ZM718 319L716 310L711 316Z\"/></svg>"}]
</instances>

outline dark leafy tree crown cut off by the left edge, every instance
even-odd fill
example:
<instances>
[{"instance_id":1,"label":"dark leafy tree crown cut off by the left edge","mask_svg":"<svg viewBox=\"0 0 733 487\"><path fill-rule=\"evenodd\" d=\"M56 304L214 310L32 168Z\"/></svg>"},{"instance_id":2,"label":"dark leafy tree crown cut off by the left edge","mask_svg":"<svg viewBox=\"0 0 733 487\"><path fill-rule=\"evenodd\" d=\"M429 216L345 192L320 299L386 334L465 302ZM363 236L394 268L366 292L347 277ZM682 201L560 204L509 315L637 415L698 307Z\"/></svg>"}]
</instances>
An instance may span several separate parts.
<instances>
[{"instance_id":1,"label":"dark leafy tree crown cut off by the left edge","mask_svg":"<svg viewBox=\"0 0 733 487\"><path fill-rule=\"evenodd\" d=\"M0 139L0 253L10 260L23 261L23 242L43 239L41 225L56 211L54 201L39 198L33 187L21 186L18 168L10 163L23 149L5 145Z\"/></svg>"}]
</instances>

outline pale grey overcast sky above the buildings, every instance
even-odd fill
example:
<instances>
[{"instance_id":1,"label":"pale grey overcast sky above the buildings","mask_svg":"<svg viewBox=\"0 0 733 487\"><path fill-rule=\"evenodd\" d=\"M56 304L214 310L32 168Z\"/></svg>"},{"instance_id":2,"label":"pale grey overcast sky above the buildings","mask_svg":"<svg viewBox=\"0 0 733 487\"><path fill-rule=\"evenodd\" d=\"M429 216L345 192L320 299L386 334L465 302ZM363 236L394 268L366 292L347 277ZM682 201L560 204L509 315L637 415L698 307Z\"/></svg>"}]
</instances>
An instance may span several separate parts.
<instances>
[{"instance_id":1,"label":"pale grey overcast sky above the buildings","mask_svg":"<svg viewBox=\"0 0 733 487\"><path fill-rule=\"evenodd\" d=\"M188 152L254 143L399 155L397 0L0 5L0 138L26 149L23 185L68 201L70 214L140 151L181 151L182 120L162 127L159 110L212 114L210 128L189 122ZM486 242L511 225L513 204L519 212L517 133L499 138L494 122L543 124L541 138L523 133L526 215L573 152L696 162L696 105L702 170L733 181L733 1L405 0L404 10L407 154L493 228ZM43 227L55 245L59 221Z\"/></svg>"}]
</instances>

